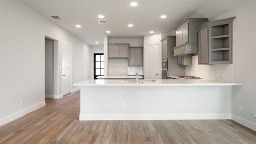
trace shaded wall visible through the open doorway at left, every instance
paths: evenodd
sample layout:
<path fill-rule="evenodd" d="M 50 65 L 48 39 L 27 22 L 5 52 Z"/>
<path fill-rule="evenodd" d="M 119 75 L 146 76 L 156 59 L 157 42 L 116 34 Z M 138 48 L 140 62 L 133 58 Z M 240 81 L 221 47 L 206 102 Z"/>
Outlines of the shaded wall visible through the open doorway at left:
<path fill-rule="evenodd" d="M 54 95 L 54 41 L 48 38 L 45 38 L 45 95 Z"/>

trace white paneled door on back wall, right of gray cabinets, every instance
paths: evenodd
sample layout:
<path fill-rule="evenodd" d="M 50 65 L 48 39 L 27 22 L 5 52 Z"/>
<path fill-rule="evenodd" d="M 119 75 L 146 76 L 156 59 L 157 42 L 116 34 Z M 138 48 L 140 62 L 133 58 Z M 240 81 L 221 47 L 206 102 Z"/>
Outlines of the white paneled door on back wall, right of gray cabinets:
<path fill-rule="evenodd" d="M 159 56 L 160 55 L 160 46 L 150 45 L 146 46 L 146 72 L 145 79 L 159 79 Z"/>

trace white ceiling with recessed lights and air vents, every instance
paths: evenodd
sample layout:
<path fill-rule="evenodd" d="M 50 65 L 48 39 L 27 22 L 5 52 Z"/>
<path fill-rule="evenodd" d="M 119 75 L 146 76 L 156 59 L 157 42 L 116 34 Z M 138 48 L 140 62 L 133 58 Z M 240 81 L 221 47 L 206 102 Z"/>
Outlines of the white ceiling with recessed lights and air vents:
<path fill-rule="evenodd" d="M 79 37 L 89 45 L 102 45 L 103 36 L 138 38 L 170 32 L 185 18 L 210 0 L 21 0 L 52 22 Z M 136 1 L 138 5 L 131 7 Z M 98 24 L 98 15 L 107 24 Z M 58 15 L 61 19 L 53 19 Z M 161 15 L 167 18 L 161 19 Z M 80 24 L 81 27 L 75 27 Z M 134 24 L 128 27 L 128 24 Z M 110 34 L 106 31 L 110 30 Z M 95 42 L 99 44 L 95 44 Z"/>

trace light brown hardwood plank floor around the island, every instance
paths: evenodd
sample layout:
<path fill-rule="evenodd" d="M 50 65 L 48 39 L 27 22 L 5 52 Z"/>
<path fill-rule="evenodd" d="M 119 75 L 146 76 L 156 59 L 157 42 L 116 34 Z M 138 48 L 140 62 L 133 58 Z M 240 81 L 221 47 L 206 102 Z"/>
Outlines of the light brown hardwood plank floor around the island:
<path fill-rule="evenodd" d="M 232 120 L 79 121 L 79 91 L 0 126 L 1 144 L 256 144 Z"/>

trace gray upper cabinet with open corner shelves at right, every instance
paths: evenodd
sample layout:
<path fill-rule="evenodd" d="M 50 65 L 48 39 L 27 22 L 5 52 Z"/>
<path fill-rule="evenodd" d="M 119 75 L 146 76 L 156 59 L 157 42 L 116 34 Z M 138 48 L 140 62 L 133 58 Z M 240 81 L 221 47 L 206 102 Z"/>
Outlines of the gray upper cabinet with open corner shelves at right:
<path fill-rule="evenodd" d="M 232 23 L 235 17 L 202 24 L 198 29 L 198 64 L 232 63 Z"/>

